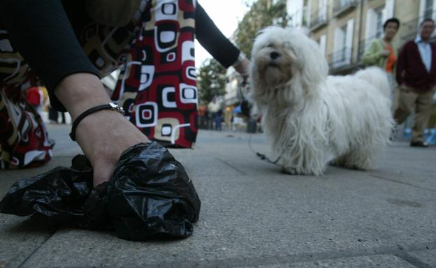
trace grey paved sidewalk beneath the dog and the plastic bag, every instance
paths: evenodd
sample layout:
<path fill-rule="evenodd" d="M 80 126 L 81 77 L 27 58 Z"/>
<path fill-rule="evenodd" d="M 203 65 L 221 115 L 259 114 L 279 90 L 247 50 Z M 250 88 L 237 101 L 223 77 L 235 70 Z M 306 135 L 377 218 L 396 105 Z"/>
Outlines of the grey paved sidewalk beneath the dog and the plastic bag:
<path fill-rule="evenodd" d="M 0 195 L 23 177 L 69 166 L 69 126 L 43 168 L 0 171 Z M 370 172 L 328 168 L 290 176 L 256 158 L 247 133 L 201 131 L 171 150 L 202 201 L 194 234 L 133 242 L 114 233 L 54 229 L 0 214 L 0 267 L 436 267 L 436 148 L 397 142 Z M 268 154 L 262 134 L 252 147 Z"/>

